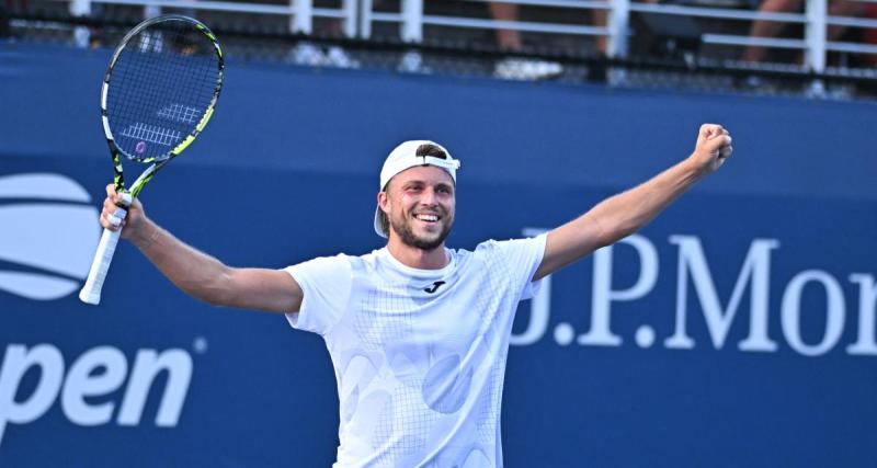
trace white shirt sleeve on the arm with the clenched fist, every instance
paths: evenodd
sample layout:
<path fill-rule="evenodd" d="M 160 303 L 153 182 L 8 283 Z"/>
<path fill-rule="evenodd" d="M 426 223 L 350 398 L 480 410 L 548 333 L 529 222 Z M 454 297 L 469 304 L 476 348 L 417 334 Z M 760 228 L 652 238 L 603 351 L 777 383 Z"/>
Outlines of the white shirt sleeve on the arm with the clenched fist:
<path fill-rule="evenodd" d="M 521 299 L 529 299 L 536 295 L 542 281 L 534 282 L 533 275 L 542 264 L 545 255 L 545 239 L 543 233 L 534 238 L 512 239 L 504 241 L 488 241 L 478 247 L 478 250 L 491 251 L 490 262 L 501 262 L 502 270 L 508 272 Z"/>

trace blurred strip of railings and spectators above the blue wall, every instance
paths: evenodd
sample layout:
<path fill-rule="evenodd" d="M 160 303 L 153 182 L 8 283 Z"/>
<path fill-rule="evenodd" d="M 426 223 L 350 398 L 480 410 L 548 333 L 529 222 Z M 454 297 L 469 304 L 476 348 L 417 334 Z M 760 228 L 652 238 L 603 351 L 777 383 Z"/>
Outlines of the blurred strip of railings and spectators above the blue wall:
<path fill-rule="evenodd" d="M 868 0 L 4 0 L 0 37 L 114 45 L 144 16 L 196 16 L 231 58 L 454 77 L 873 96 Z"/>

